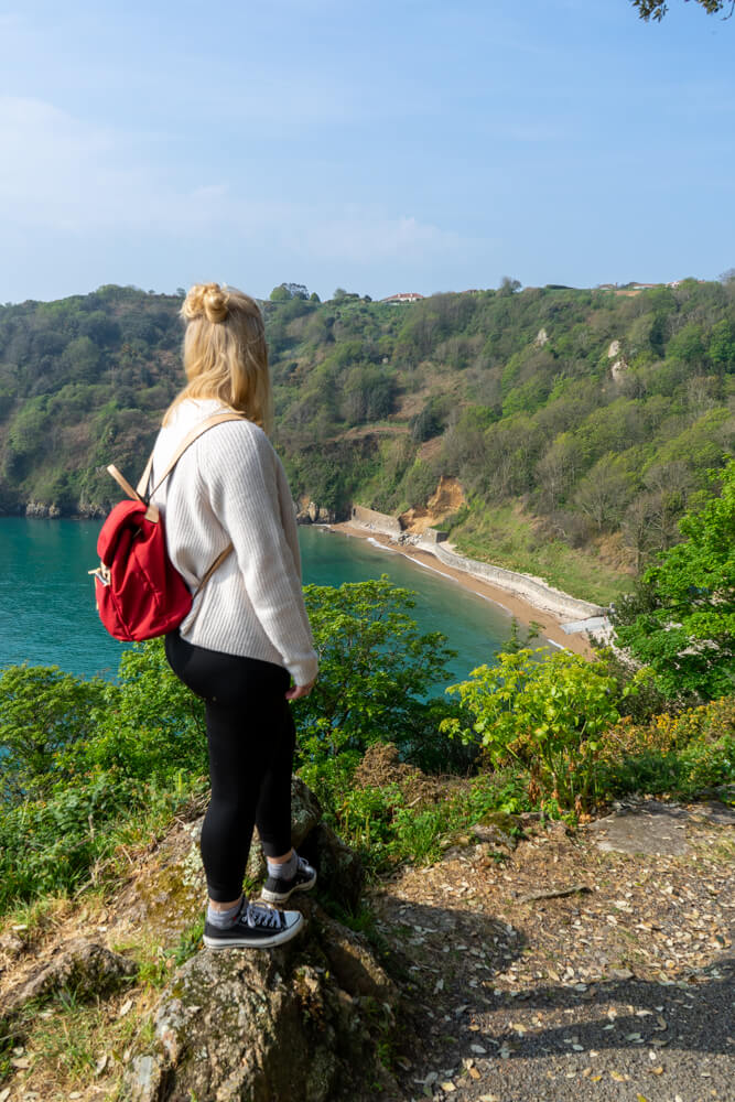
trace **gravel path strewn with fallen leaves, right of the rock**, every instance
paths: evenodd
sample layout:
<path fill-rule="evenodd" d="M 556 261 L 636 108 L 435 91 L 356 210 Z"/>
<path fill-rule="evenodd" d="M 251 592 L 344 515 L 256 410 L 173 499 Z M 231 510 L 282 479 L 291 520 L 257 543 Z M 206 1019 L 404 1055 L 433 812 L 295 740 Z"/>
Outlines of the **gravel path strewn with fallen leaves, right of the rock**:
<path fill-rule="evenodd" d="M 612 847 L 624 812 L 634 852 Z M 651 815 L 673 852 L 635 852 Z M 385 886 L 412 1015 L 401 1099 L 733 1102 L 734 819 L 641 803 L 515 850 L 467 840 Z"/>

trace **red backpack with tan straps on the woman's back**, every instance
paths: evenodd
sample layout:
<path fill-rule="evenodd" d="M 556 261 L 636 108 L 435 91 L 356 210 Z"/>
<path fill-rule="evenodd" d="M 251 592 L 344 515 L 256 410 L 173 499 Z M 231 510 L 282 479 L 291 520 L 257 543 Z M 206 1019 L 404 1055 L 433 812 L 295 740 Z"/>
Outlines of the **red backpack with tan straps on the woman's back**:
<path fill-rule="evenodd" d="M 133 489 L 116 466 L 107 469 L 131 500 L 116 505 L 97 540 L 100 564 L 95 577 L 99 617 L 115 639 L 140 642 L 172 631 L 188 615 L 194 597 L 233 550 L 230 543 L 217 555 L 194 593 L 166 552 L 163 518 L 151 498 L 169 477 L 187 447 L 202 433 L 223 421 L 241 421 L 238 413 L 216 413 L 196 425 L 176 449 L 171 463 L 148 494 L 153 454 Z"/>

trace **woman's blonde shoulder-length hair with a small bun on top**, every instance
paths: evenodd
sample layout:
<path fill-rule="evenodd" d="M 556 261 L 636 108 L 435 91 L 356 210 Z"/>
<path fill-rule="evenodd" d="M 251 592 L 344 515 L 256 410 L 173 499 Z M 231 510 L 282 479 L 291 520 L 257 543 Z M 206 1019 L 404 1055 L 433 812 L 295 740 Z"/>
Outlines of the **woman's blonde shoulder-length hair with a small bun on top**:
<path fill-rule="evenodd" d="M 216 398 L 270 432 L 272 392 L 266 328 L 250 295 L 219 283 L 196 283 L 181 307 L 186 321 L 184 370 L 187 383 L 163 418 L 186 398 Z"/>

